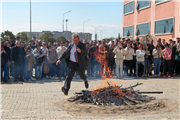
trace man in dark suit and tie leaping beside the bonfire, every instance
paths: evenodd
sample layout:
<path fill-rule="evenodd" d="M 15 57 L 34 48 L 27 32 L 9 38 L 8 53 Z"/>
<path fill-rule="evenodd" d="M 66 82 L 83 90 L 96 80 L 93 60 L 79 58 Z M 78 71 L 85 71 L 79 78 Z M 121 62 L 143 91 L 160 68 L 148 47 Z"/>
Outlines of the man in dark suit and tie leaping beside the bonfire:
<path fill-rule="evenodd" d="M 56 65 L 58 65 L 61 63 L 61 60 L 65 59 L 66 65 L 69 67 L 68 77 L 65 80 L 64 87 L 61 89 L 65 95 L 68 95 L 71 81 L 76 71 L 78 72 L 80 78 L 84 80 L 85 87 L 89 87 L 87 77 L 85 75 L 85 67 L 87 66 L 87 61 L 85 59 L 87 53 L 86 45 L 80 42 L 78 34 L 73 34 L 72 39 L 73 43 L 69 44 L 67 50 L 56 63 Z"/>

